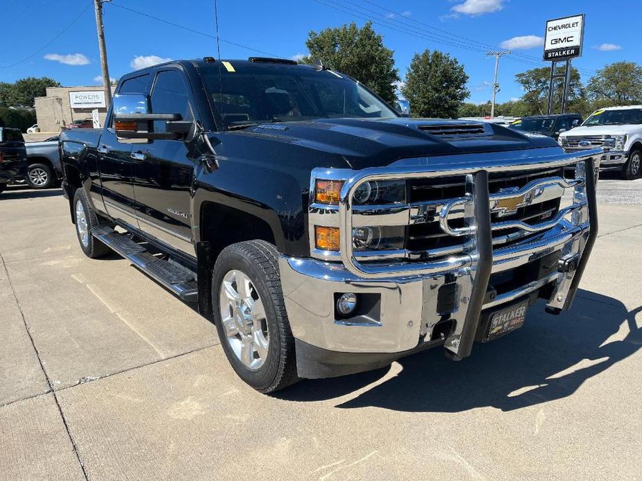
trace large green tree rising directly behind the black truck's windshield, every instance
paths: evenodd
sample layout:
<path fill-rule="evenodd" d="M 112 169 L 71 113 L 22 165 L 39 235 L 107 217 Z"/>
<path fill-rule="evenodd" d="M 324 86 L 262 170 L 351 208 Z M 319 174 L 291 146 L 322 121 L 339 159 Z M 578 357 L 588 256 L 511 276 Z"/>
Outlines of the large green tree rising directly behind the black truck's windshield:
<path fill-rule="evenodd" d="M 312 64 L 320 60 L 326 67 L 359 80 L 394 105 L 394 82 L 399 80 L 399 75 L 394 67 L 393 51 L 384 46 L 381 35 L 372 28 L 372 22 L 362 28 L 352 23 L 326 28 L 319 33 L 313 30 L 305 45 L 310 55 L 301 62 Z"/>

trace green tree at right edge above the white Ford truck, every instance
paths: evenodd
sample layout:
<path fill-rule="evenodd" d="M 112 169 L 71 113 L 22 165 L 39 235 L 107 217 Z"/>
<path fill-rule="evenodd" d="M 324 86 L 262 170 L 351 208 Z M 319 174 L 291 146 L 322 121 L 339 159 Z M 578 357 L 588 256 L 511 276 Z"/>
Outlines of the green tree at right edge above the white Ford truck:
<path fill-rule="evenodd" d="M 610 105 L 631 105 L 642 100 L 642 67 L 635 62 L 615 62 L 598 70 L 586 87 L 591 100 Z"/>

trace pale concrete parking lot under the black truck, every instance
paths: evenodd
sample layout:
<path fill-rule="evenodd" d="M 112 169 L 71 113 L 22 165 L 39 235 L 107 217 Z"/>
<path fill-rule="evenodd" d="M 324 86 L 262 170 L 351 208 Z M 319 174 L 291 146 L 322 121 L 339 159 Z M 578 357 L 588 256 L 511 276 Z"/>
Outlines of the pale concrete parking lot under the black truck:
<path fill-rule="evenodd" d="M 0 195 L 0 480 L 640 480 L 642 180 L 600 180 L 573 310 L 451 362 L 264 396 L 60 189 Z"/>

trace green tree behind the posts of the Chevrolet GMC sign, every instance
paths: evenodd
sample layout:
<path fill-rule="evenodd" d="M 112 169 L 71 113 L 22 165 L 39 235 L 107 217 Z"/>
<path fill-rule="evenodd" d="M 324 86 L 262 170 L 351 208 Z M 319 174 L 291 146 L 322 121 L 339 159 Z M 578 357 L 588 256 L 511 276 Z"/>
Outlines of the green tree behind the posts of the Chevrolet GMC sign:
<path fill-rule="evenodd" d="M 562 66 L 557 73 L 563 73 Z M 521 100 L 526 104 L 530 115 L 546 114 L 548 107 L 548 87 L 550 81 L 550 69 L 530 69 L 515 76 L 517 82 L 522 86 L 524 95 Z M 585 97 L 584 88 L 580 80 L 580 72 L 571 67 L 571 84 L 568 86 L 568 112 L 573 112 L 578 103 L 582 103 Z M 556 81 L 553 87 L 552 112 L 559 113 L 561 110 L 561 96 L 563 94 L 564 82 Z"/>

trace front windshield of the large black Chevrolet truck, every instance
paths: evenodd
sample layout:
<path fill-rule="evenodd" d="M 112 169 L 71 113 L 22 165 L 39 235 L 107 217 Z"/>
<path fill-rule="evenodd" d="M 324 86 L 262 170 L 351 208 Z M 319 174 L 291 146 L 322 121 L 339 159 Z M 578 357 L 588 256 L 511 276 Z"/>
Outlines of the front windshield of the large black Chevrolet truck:
<path fill-rule="evenodd" d="M 218 67 L 208 67 L 202 72 L 205 87 L 226 128 L 266 121 L 397 116 L 362 85 L 333 71 L 244 65 L 234 71 L 221 69 L 219 85 Z"/>

